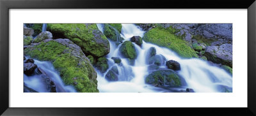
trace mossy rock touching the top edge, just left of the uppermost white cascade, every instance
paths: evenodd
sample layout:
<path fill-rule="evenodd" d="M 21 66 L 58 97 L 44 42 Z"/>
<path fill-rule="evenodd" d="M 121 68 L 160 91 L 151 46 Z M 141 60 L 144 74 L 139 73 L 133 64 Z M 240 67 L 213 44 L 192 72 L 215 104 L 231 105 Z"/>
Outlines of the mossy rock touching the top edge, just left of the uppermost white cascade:
<path fill-rule="evenodd" d="M 111 41 L 116 41 L 117 43 L 120 43 L 120 41 L 124 40 L 124 38 L 122 38 L 120 36 L 120 32 L 118 31 L 118 25 L 121 26 L 121 24 L 115 24 L 115 26 L 113 26 L 113 24 L 104 24 L 104 34 L 107 38 L 109 38 L 109 40 Z"/>

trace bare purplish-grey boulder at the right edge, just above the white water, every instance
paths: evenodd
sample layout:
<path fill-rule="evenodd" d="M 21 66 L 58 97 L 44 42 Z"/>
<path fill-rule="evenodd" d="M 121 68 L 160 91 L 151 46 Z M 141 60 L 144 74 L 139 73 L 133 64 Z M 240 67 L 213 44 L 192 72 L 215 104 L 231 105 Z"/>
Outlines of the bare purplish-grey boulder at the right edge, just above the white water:
<path fill-rule="evenodd" d="M 209 46 L 205 50 L 205 57 L 216 64 L 232 67 L 232 45 L 225 43 L 218 46 Z"/>

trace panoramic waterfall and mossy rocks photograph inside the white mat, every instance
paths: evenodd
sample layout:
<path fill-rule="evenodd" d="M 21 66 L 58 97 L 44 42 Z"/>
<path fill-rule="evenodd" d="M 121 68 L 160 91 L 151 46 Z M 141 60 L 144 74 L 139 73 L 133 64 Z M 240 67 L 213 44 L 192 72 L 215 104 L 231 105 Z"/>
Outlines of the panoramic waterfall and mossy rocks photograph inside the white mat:
<path fill-rule="evenodd" d="M 232 92 L 232 24 L 23 24 L 24 92 Z"/>

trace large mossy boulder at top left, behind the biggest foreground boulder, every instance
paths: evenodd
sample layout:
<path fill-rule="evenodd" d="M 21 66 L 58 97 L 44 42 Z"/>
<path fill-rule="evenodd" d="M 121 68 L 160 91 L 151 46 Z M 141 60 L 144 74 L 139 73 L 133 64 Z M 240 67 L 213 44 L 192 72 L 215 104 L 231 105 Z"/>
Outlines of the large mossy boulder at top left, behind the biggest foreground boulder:
<path fill-rule="evenodd" d="M 109 41 L 96 24 L 47 24 L 53 38 L 68 38 L 81 47 L 84 54 L 102 57 L 109 53 Z"/>

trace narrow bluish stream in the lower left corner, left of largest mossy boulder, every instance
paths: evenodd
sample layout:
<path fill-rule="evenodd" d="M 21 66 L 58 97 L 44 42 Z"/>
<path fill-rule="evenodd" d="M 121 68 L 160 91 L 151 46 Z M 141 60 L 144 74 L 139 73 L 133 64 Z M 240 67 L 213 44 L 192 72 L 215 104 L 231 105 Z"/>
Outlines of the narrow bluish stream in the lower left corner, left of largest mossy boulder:
<path fill-rule="evenodd" d="M 26 57 L 28 59 L 28 57 Z M 76 92 L 76 89 L 70 85 L 65 85 L 60 77 L 58 71 L 54 69 L 51 62 L 49 61 L 38 61 L 34 59 L 34 64 L 37 65 L 38 68 L 41 68 L 45 71 L 47 76 L 54 82 L 56 85 L 56 92 Z M 31 76 L 27 76 L 24 74 L 24 83 L 26 86 L 34 89 L 37 92 L 49 92 L 47 91 L 47 87 L 44 82 L 44 78 L 41 75 L 35 74 Z"/>

